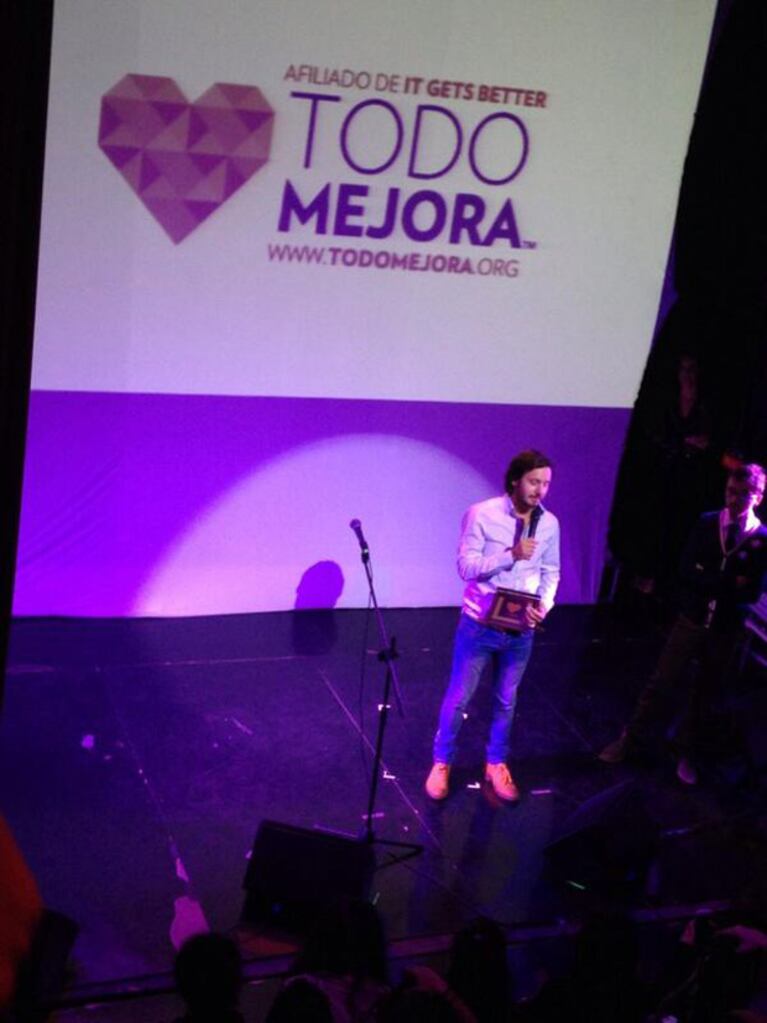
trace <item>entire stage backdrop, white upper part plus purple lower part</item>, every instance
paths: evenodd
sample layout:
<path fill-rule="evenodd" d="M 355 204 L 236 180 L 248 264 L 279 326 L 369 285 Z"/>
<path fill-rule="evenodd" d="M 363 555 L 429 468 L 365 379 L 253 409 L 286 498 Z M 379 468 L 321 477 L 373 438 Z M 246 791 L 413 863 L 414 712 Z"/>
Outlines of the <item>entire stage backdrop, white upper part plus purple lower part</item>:
<path fill-rule="evenodd" d="M 714 6 L 58 0 L 16 613 L 453 604 L 531 445 L 593 599 Z"/>

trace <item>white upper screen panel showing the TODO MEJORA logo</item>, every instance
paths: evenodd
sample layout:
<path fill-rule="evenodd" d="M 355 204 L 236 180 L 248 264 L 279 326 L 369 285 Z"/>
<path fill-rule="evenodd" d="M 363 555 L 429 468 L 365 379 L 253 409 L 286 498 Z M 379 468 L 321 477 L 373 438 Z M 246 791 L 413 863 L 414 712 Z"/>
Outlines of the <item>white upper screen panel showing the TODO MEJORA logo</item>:
<path fill-rule="evenodd" d="M 714 6 L 58 0 L 33 386 L 629 406 Z"/>

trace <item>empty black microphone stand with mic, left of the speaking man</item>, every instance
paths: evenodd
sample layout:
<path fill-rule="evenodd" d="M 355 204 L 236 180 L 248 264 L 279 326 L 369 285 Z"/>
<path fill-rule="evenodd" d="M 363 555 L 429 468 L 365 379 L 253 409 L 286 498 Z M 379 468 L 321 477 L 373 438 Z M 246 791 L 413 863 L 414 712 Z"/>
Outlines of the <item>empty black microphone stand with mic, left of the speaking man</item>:
<path fill-rule="evenodd" d="M 365 569 L 365 575 L 367 576 L 370 603 L 372 604 L 375 613 L 375 620 L 378 626 L 378 638 L 381 644 L 380 650 L 378 651 L 378 660 L 381 664 L 386 665 L 386 672 L 384 675 L 384 695 L 380 703 L 378 704 L 378 727 L 375 735 L 375 752 L 373 754 L 373 763 L 370 773 L 370 788 L 368 791 L 367 810 L 364 817 L 365 827 L 362 835 L 362 841 L 366 845 L 382 845 L 390 848 L 401 849 L 402 851 L 399 855 L 392 855 L 391 859 L 389 859 L 386 863 L 378 864 L 379 868 L 394 866 L 395 863 L 402 863 L 406 859 L 412 859 L 414 856 L 418 856 L 421 852 L 423 852 L 422 845 L 418 845 L 415 842 L 398 842 L 394 839 L 377 838 L 375 836 L 375 832 L 373 831 L 375 797 L 378 792 L 378 775 L 380 773 L 381 756 L 384 753 L 384 736 L 387 729 L 389 711 L 391 710 L 390 698 L 392 690 L 394 690 L 394 696 L 397 702 L 397 711 L 400 717 L 405 716 L 405 712 L 402 707 L 400 682 L 397 677 L 397 668 L 395 667 L 395 661 L 399 655 L 397 653 L 397 640 L 394 636 L 392 636 L 390 640 L 387 633 L 387 626 L 384 622 L 384 616 L 381 615 L 380 608 L 378 607 L 378 601 L 375 595 L 375 586 L 373 585 L 373 572 L 370 567 L 370 550 L 365 542 L 364 536 L 362 535 L 360 523 L 355 519 L 350 525 L 357 534 L 357 539 L 360 542 L 362 565 Z"/>

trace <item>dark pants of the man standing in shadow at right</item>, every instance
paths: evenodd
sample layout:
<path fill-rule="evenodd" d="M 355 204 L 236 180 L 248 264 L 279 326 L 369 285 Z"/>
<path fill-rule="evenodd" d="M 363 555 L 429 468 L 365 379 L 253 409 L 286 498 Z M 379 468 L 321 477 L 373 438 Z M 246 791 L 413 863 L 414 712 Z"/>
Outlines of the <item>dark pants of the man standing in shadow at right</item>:
<path fill-rule="evenodd" d="M 684 756 L 691 756 L 700 748 L 716 695 L 727 671 L 734 664 L 739 635 L 739 628 L 707 629 L 683 615 L 677 618 L 658 659 L 656 670 L 639 694 L 627 725 L 627 735 L 632 744 L 647 745 L 652 732 L 661 724 L 668 724 L 673 698 L 690 662 L 697 658 L 676 746 Z"/>

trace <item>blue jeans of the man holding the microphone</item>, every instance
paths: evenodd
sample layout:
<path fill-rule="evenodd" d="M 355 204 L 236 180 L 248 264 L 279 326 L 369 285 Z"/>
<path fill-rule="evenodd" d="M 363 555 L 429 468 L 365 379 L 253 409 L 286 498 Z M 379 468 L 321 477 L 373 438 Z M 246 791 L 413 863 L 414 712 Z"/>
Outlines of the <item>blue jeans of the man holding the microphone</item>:
<path fill-rule="evenodd" d="M 434 741 L 434 758 L 452 763 L 458 732 L 483 669 L 493 662 L 494 710 L 487 745 L 488 763 L 501 763 L 508 756 L 516 691 L 530 660 L 533 632 L 513 634 L 481 625 L 461 615 L 455 633 L 453 668 L 440 711 Z"/>

